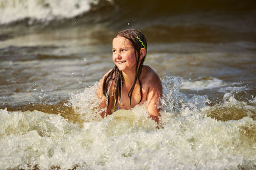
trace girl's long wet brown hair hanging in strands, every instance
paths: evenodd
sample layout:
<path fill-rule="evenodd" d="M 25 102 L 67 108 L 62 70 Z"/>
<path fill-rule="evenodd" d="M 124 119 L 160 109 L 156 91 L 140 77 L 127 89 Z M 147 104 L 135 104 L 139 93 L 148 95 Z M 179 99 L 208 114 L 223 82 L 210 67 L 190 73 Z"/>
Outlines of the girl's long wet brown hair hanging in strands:
<path fill-rule="evenodd" d="M 132 44 L 132 47 L 134 48 L 134 54 L 135 54 L 135 57 L 136 57 L 136 66 L 135 66 L 136 74 L 135 74 L 135 77 L 134 77 L 134 81 L 133 81 L 131 90 L 128 93 L 128 97 L 130 99 L 130 105 L 131 105 L 131 103 L 132 103 L 132 92 L 134 90 L 134 87 L 136 85 L 137 80 L 140 83 L 140 96 L 141 96 L 140 102 L 143 98 L 142 89 L 141 89 L 140 74 L 141 74 L 141 70 L 142 70 L 142 67 L 143 67 L 143 62 L 144 62 L 145 57 L 147 55 L 147 39 L 145 38 L 145 36 L 143 35 L 143 33 L 141 31 L 138 31 L 136 29 L 126 29 L 124 31 L 120 31 L 115 35 L 114 38 L 117 38 L 117 37 L 124 37 L 126 39 L 129 39 L 129 41 Z M 140 50 L 141 50 L 141 48 L 145 48 L 146 53 L 145 53 L 145 56 L 143 57 L 143 59 L 140 62 Z M 120 100 L 121 100 L 121 97 L 122 97 L 121 96 L 121 93 L 122 93 L 121 90 L 122 90 L 122 85 L 124 83 L 124 77 L 123 77 L 122 71 L 120 71 L 116 65 L 108 73 L 108 75 L 104 78 L 103 85 L 102 85 L 102 92 L 103 92 L 104 96 L 106 96 L 106 97 L 108 96 L 108 104 L 109 104 L 109 96 L 111 95 L 111 94 L 107 95 L 108 87 L 109 87 L 109 83 L 113 80 L 115 80 L 115 99 L 114 99 L 114 101 L 118 101 L 118 97 L 119 97 Z M 110 85 L 111 85 L 111 83 L 110 83 Z M 115 106 L 116 106 L 116 102 L 114 104 L 114 108 L 115 108 Z"/>

